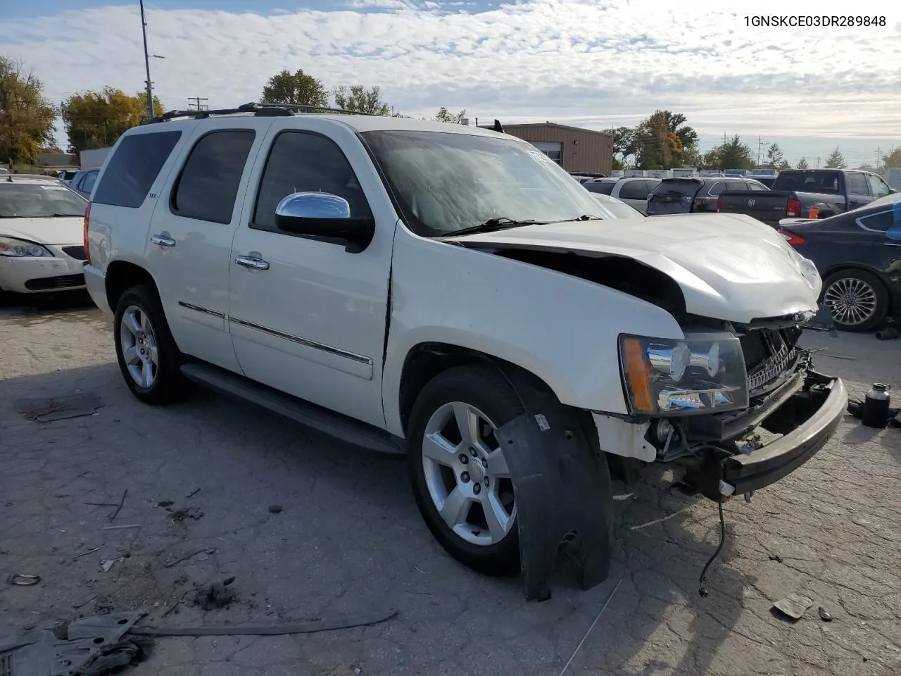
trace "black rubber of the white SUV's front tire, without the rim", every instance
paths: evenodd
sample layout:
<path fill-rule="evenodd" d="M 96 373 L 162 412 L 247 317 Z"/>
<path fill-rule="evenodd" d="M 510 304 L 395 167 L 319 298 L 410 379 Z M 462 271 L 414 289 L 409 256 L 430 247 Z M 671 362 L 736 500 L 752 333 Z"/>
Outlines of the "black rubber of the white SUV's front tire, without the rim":
<path fill-rule="evenodd" d="M 514 388 L 496 369 L 487 365 L 460 366 L 430 380 L 416 397 L 407 425 L 410 481 L 425 524 L 441 546 L 457 561 L 486 575 L 515 575 L 520 571 L 519 533 L 514 525 L 496 544 L 472 544 L 454 533 L 435 507 L 423 470 L 423 436 L 432 414 L 451 402 L 478 408 L 501 427 L 523 413 Z"/>

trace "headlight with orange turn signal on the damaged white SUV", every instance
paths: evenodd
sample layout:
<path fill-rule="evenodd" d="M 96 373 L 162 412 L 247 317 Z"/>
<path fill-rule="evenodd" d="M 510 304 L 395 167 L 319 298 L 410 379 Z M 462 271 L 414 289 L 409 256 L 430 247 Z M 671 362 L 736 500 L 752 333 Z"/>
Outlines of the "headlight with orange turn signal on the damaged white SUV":
<path fill-rule="evenodd" d="M 620 336 L 623 387 L 633 414 L 687 416 L 748 407 L 739 339 L 696 333 L 682 341 Z"/>

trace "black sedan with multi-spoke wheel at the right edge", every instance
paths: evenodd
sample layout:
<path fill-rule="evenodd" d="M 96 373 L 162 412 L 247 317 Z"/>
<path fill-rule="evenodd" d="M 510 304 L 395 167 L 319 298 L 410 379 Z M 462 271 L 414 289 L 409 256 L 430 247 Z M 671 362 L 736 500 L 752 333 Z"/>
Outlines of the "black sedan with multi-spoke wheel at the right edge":
<path fill-rule="evenodd" d="M 881 200 L 880 200 L 881 202 Z M 901 197 L 821 220 L 783 222 L 779 233 L 824 279 L 822 300 L 845 331 L 901 315 Z"/>

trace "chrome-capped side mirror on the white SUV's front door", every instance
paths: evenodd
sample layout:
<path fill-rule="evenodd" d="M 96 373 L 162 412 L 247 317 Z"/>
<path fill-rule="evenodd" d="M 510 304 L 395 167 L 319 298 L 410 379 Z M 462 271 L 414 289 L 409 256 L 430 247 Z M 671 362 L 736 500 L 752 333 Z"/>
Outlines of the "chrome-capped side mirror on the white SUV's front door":
<path fill-rule="evenodd" d="M 276 226 L 286 233 L 344 244 L 345 251 L 359 253 L 376 233 L 372 216 L 351 216 L 350 204 L 329 193 L 291 193 L 276 206 Z"/>

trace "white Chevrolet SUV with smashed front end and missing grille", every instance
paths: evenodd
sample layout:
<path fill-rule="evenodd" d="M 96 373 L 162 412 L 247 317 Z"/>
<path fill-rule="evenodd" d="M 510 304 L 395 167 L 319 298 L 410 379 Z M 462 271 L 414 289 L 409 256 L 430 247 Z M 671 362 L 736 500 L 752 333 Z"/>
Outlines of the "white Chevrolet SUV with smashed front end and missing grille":
<path fill-rule="evenodd" d="M 474 569 L 519 571 L 542 518 L 588 499 L 608 565 L 608 459 L 678 461 L 722 501 L 842 418 L 797 345 L 816 270 L 748 216 L 605 221 L 478 127 L 194 115 L 126 132 L 86 217 L 128 387 L 159 404 L 200 381 L 407 452 L 426 524 Z"/>

